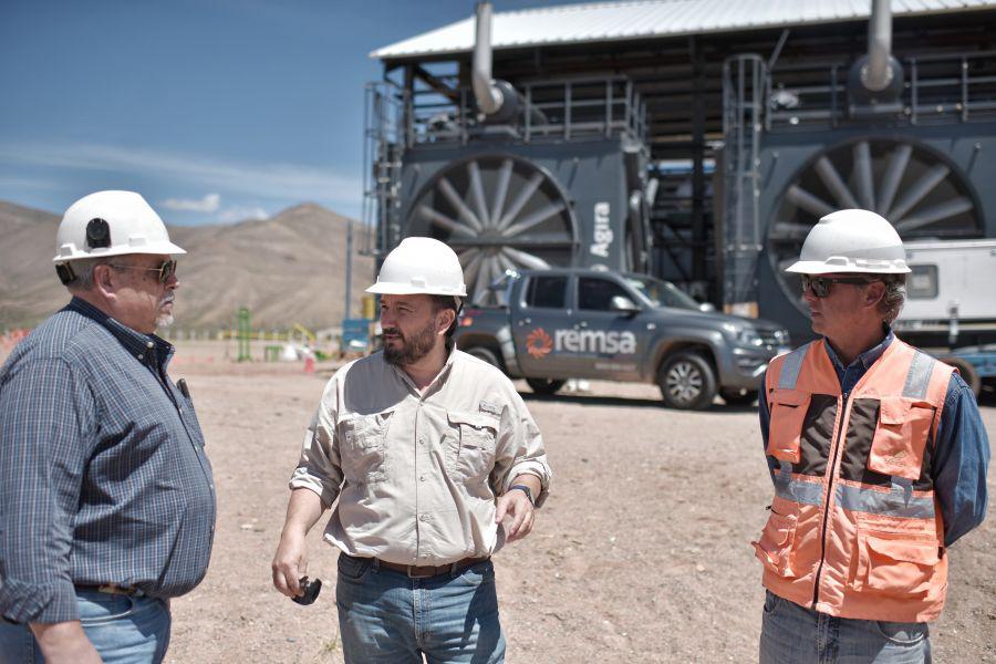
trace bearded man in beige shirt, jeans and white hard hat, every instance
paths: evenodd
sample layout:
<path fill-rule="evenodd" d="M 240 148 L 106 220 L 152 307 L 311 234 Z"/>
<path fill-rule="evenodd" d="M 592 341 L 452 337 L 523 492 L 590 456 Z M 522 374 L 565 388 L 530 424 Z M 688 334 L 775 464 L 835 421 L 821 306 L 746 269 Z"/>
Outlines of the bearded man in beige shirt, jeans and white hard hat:
<path fill-rule="evenodd" d="M 511 382 L 454 349 L 467 291 L 449 247 L 403 240 L 367 292 L 381 295 L 384 350 L 325 387 L 273 584 L 302 594 L 304 536 L 335 504 L 325 540 L 340 550 L 347 663 L 504 662 L 490 557 L 529 535 L 547 497 L 542 438 Z"/>

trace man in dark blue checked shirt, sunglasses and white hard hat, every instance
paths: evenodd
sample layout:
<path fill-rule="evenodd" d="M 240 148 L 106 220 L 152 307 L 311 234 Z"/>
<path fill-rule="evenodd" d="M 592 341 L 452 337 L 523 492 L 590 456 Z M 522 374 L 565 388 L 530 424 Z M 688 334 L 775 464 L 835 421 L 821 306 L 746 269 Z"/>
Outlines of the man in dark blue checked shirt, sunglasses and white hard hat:
<path fill-rule="evenodd" d="M 72 300 L 0 367 L 0 664 L 160 662 L 169 599 L 204 578 L 211 468 L 155 334 L 179 253 L 132 191 L 91 194 L 59 225 Z"/>

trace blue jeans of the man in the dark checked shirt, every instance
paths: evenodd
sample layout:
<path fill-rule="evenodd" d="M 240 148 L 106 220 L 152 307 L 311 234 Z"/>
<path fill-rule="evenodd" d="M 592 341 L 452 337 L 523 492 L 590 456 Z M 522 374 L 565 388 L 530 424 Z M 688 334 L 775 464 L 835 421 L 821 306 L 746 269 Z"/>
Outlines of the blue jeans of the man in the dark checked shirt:
<path fill-rule="evenodd" d="M 80 623 L 104 664 L 158 664 L 169 645 L 166 600 L 76 589 Z M 0 621 L 0 664 L 42 664 L 28 625 Z"/>

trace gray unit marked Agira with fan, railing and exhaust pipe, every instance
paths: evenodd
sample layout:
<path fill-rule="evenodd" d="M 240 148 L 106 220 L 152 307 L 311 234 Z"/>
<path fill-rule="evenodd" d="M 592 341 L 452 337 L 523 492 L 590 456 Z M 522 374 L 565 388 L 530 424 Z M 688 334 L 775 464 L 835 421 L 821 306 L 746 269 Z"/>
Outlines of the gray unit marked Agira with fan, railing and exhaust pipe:
<path fill-rule="evenodd" d="M 433 77 L 369 97 L 378 253 L 409 236 L 446 242 L 477 304 L 497 302 L 488 287 L 508 270 L 650 271 L 654 186 L 634 85 L 492 79 L 490 12 L 478 4 L 469 87 Z"/>

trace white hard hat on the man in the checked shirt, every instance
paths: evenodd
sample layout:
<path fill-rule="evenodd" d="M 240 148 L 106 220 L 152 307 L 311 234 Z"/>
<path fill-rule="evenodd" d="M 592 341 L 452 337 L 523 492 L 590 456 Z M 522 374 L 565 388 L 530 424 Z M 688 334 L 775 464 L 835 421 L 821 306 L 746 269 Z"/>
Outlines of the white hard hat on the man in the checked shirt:
<path fill-rule="evenodd" d="M 186 251 L 169 241 L 166 225 L 134 191 L 97 191 L 65 210 L 55 234 L 52 262 L 125 253 Z"/>

